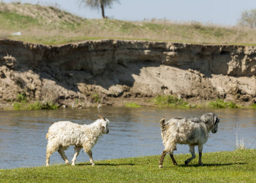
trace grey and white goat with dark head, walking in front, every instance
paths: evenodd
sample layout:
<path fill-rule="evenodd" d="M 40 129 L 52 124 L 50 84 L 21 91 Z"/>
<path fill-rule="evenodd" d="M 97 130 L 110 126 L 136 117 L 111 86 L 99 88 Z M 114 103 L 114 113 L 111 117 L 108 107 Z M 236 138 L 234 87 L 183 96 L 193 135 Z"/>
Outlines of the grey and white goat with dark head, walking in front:
<path fill-rule="evenodd" d="M 162 138 L 164 151 L 159 160 L 159 168 L 163 167 L 164 157 L 170 154 L 172 163 L 178 165 L 174 159 L 174 150 L 177 150 L 177 143 L 188 144 L 192 157 L 185 161 L 185 165 L 196 157 L 195 145 L 199 151 L 199 165 L 202 163 L 203 144 L 208 140 L 209 132 L 216 133 L 218 131 L 219 117 L 214 113 L 205 113 L 200 117 L 194 118 L 171 118 L 165 124 L 165 117 L 161 119 Z"/>

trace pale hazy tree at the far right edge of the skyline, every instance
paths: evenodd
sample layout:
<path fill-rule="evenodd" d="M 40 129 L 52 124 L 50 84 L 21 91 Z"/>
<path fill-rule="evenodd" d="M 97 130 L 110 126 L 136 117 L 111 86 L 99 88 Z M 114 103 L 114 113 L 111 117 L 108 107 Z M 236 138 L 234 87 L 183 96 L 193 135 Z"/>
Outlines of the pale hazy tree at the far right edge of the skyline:
<path fill-rule="evenodd" d="M 251 28 L 256 27 L 256 9 L 245 10 L 242 12 L 239 24 Z"/>

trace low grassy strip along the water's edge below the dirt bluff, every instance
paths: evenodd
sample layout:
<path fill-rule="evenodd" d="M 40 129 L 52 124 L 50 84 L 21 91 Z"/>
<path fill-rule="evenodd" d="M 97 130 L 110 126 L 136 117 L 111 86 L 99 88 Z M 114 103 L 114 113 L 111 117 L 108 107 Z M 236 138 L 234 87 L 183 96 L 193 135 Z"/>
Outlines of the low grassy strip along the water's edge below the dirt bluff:
<path fill-rule="evenodd" d="M 55 110 L 55 109 L 87 109 L 89 107 L 101 108 L 101 107 L 128 107 L 128 108 L 137 108 L 137 107 L 167 107 L 167 108 L 175 108 L 175 109 L 188 109 L 188 108 L 201 108 L 201 109 L 256 109 L 256 104 L 252 104 L 251 106 L 241 106 L 240 104 L 236 104 L 235 102 L 224 102 L 224 100 L 217 99 L 211 101 L 200 101 L 200 102 L 188 102 L 183 101 L 183 99 L 177 99 L 175 102 L 169 102 L 168 97 L 174 96 L 157 96 L 156 98 L 136 98 L 136 99 L 119 99 L 119 102 L 116 102 L 118 99 L 115 98 L 115 102 L 117 105 L 106 105 L 104 103 L 90 103 L 89 106 L 84 107 L 81 106 L 78 102 L 76 105 L 70 104 L 70 106 L 65 106 L 62 104 L 56 103 L 47 103 L 45 101 L 28 101 L 28 102 L 2 102 L 0 103 L 0 110 Z M 161 104 L 159 101 L 156 101 L 157 98 L 167 98 L 166 101 Z M 169 103 L 168 103 L 169 102 Z M 243 104 L 242 104 L 243 105 Z"/>

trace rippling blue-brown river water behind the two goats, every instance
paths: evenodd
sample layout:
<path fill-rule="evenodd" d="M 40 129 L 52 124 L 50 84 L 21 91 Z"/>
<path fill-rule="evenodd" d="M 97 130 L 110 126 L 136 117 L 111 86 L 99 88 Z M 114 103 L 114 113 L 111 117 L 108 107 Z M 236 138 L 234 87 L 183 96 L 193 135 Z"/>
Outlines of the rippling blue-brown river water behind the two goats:
<path fill-rule="evenodd" d="M 93 147 L 93 159 L 109 160 L 122 157 L 160 155 L 163 151 L 159 120 L 165 115 L 192 117 L 205 112 L 214 112 L 221 119 L 218 132 L 212 134 L 203 152 L 233 151 L 236 145 L 236 130 L 247 148 L 255 148 L 255 109 L 168 109 L 168 108 L 117 108 L 59 109 L 0 111 L 0 169 L 38 167 L 45 165 L 47 140 L 45 134 L 56 121 L 72 121 L 89 124 L 97 120 L 97 114 L 108 118 L 109 134 L 104 134 Z M 73 147 L 65 151 L 69 160 Z M 178 145 L 175 154 L 189 152 L 188 145 Z M 196 148 L 196 152 L 197 148 Z M 76 163 L 88 162 L 86 152 L 81 151 Z M 50 159 L 53 163 L 65 162 L 58 152 Z"/>

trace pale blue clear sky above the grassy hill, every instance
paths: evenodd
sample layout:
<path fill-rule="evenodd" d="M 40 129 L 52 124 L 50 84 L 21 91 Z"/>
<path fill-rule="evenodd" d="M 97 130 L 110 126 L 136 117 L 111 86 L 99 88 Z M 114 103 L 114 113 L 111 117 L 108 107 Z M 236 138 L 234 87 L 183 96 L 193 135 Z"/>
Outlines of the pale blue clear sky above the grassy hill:
<path fill-rule="evenodd" d="M 53 5 L 83 18 L 101 18 L 100 10 L 80 5 L 81 0 L 2 0 Z M 256 9 L 256 0 L 119 0 L 105 10 L 109 18 L 142 21 L 152 18 L 177 21 L 196 21 L 205 24 L 235 26 L 244 10 Z"/>

